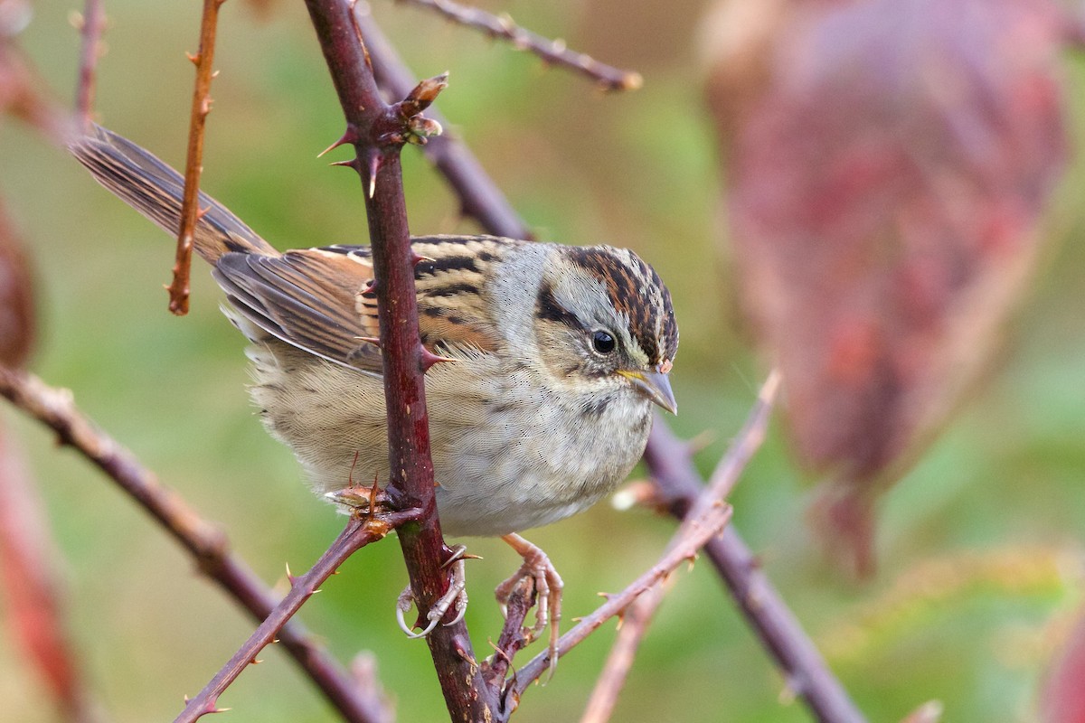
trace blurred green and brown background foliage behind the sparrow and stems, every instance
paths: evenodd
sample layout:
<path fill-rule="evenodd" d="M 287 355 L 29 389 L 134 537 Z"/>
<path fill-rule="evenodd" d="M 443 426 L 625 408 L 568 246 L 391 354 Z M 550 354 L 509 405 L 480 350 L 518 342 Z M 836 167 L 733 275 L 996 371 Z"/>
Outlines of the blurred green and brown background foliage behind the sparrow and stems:
<path fill-rule="evenodd" d="M 280 248 L 365 242 L 357 178 L 316 154 L 342 128 L 301 2 L 229 2 L 217 49 L 203 188 Z M 406 7 L 373 12 L 419 77 L 450 70 L 441 106 L 540 238 L 612 243 L 649 259 L 681 328 L 674 427 L 711 439 L 711 470 L 765 373 L 736 323 L 716 151 L 698 53 L 702 2 L 511 0 L 480 3 L 604 62 L 644 76 L 602 95 L 534 57 Z M 20 38 L 62 101 L 73 94 L 73 2 L 37 3 Z M 110 0 L 99 66 L 100 120 L 183 162 L 200 3 Z M 1085 69 L 1067 53 L 1074 150 Z M 347 157 L 347 150 L 332 159 Z M 1044 671 L 1082 605 L 1085 535 L 1085 167 L 1075 162 L 1047 216 L 1030 293 L 994 371 L 918 465 L 881 502 L 876 576 L 856 584 L 825 564 L 804 525 L 810 482 L 777 429 L 732 500 L 735 525 L 858 706 L 899 720 L 937 698 L 953 721 L 1029 721 Z M 405 152 L 416 233 L 473 232 L 421 155 Z M 242 339 L 219 314 L 201 266 L 192 312 L 175 319 L 161 286 L 169 241 L 17 122 L 0 125 L 0 193 L 28 240 L 38 281 L 33 369 L 74 390 L 81 409 L 229 532 L 266 580 L 308 567 L 342 518 L 301 481 L 289 451 L 253 414 Z M 35 424 L 4 413 L 29 451 L 66 586 L 71 629 L 111 720 L 168 720 L 251 631 L 171 541 L 107 481 Z M 598 591 L 624 588 L 674 526 L 600 504 L 529 533 L 566 581 L 566 619 Z M 468 624 L 476 650 L 499 631 L 490 590 L 516 565 L 500 543 L 470 541 Z M 374 650 L 398 720 L 446 713 L 425 645 L 404 638 L 393 603 L 406 582 L 398 545 L 366 550 L 304 609 L 341 660 Z M 52 713 L 0 632 L 4 720 Z M 578 647 L 516 720 L 575 720 L 613 627 Z M 285 656 L 269 650 L 221 700 L 245 721 L 333 720 Z M 706 565 L 682 572 L 638 657 L 617 721 L 802 721 L 784 681 Z"/>

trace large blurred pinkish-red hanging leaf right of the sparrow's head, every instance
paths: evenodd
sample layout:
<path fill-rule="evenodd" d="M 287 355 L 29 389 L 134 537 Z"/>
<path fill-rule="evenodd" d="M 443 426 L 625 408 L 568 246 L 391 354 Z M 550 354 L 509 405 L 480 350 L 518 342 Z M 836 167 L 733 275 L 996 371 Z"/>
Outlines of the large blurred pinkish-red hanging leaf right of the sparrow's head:
<path fill-rule="evenodd" d="M 877 493 L 1027 279 L 1067 158 L 1070 26 L 1046 0 L 749 4 L 716 14 L 709 87 L 741 301 L 797 454 L 830 480 L 815 519 L 863 574 Z"/>

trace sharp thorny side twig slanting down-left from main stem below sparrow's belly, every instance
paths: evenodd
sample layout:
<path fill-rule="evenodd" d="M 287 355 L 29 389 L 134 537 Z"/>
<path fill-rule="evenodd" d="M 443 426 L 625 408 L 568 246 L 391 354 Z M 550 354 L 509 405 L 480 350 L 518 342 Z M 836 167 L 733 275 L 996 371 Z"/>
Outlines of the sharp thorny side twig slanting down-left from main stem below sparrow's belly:
<path fill-rule="evenodd" d="M 350 555 L 372 542 L 384 539 L 390 530 L 413 519 L 420 512 L 419 509 L 409 509 L 390 515 L 352 517 L 346 528 L 309 571 L 301 578 L 291 580 L 290 592 L 286 593 L 282 602 L 276 606 L 271 615 L 260 623 L 259 628 L 218 671 L 215 677 L 207 683 L 200 695 L 188 701 L 184 710 L 175 719 L 174 723 L 193 723 L 207 713 L 219 712 L 221 709 L 218 708 L 218 697 L 237 680 L 241 671 L 257 661 L 256 656 L 259 655 L 260 650 L 275 642 L 276 634 L 302 608 L 305 601 L 318 592 L 324 580 L 335 572 Z"/>

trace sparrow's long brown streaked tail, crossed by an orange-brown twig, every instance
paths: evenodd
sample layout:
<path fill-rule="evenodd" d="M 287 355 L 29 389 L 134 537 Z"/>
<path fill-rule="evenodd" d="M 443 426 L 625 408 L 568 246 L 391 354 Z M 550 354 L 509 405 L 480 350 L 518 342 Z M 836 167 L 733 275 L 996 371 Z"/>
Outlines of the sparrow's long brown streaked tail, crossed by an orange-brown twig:
<path fill-rule="evenodd" d="M 101 126 L 68 144 L 73 155 L 94 179 L 125 203 L 177 235 L 181 220 L 184 179 L 149 151 Z M 200 194 L 200 212 L 193 245 L 200 256 L 214 263 L 228 251 L 278 256 L 237 216 L 210 196 Z"/>

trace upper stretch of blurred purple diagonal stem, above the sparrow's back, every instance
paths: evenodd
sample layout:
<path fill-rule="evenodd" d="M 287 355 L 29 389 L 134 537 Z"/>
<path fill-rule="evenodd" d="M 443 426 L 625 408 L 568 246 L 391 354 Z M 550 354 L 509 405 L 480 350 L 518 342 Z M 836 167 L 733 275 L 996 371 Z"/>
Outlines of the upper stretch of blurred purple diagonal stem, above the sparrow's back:
<path fill-rule="evenodd" d="M 355 5 L 355 20 L 362 40 L 373 63 L 376 83 L 387 98 L 405 98 L 414 86 L 413 76 L 403 64 L 395 49 L 388 43 L 381 29 L 373 22 L 369 5 Z M 531 232 L 509 202 L 498 191 L 493 179 L 486 175 L 478 160 L 463 146 L 463 143 L 448 132 L 449 124 L 431 107 L 426 115 L 446 129 L 441 135 L 430 139 L 422 146 L 422 153 L 448 180 L 460 199 L 464 216 L 475 219 L 489 233 L 510 238 L 533 238 Z"/>

